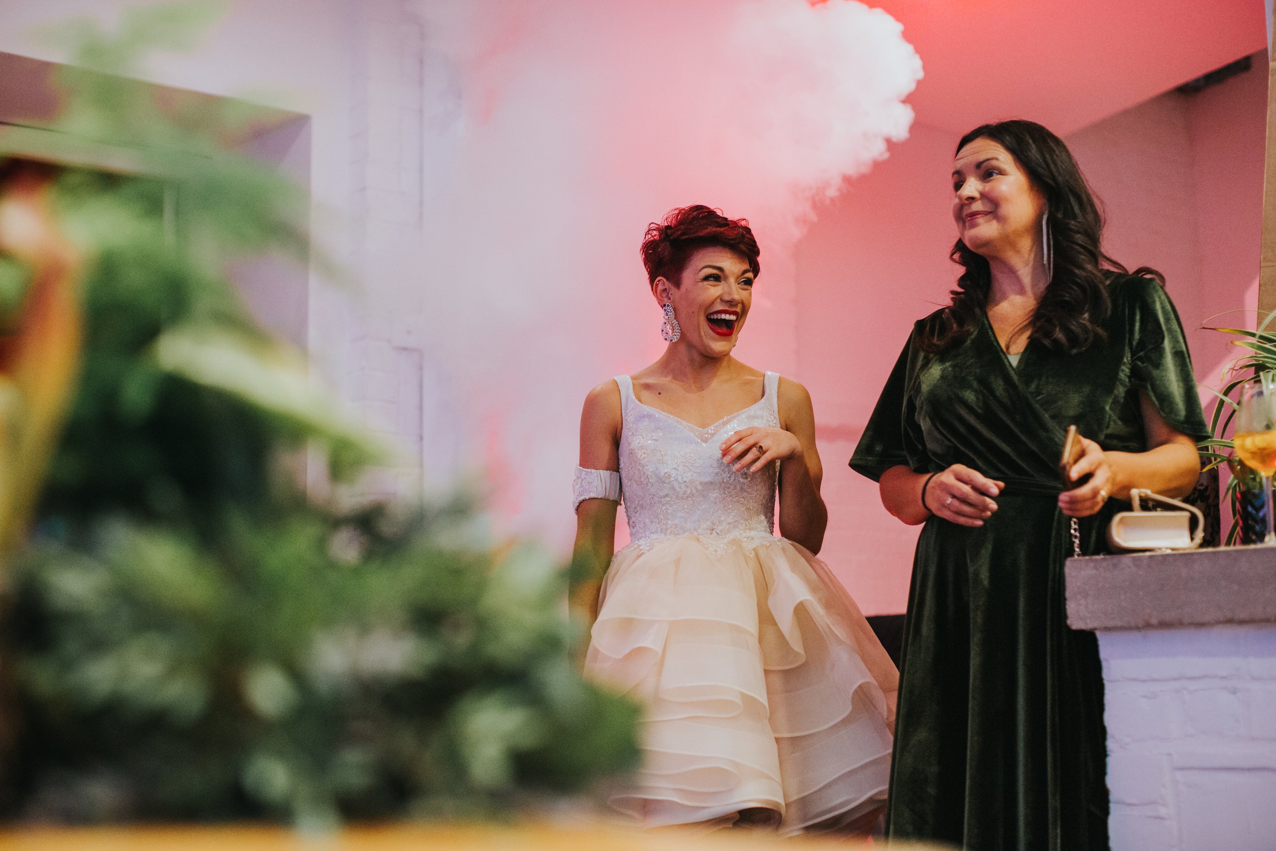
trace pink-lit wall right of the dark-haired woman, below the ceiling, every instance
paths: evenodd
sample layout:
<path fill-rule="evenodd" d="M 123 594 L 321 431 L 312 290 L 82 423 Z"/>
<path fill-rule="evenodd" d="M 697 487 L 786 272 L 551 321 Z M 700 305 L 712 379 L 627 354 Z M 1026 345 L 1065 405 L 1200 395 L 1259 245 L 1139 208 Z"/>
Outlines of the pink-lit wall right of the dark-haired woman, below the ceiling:
<path fill-rule="evenodd" d="M 1205 325 L 1253 327 L 1262 225 L 1267 54 L 1194 94 L 1168 92 L 1068 137 L 1102 198 L 1108 253 L 1165 273 L 1201 381 L 1235 356 Z M 1229 351 L 1230 350 L 1230 351 Z"/>

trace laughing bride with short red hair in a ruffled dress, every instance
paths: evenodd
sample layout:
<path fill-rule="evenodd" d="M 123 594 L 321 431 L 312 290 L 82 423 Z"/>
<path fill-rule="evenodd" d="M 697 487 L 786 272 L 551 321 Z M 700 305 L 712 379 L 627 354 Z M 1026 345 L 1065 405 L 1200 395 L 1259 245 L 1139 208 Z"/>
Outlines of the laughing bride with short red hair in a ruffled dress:
<path fill-rule="evenodd" d="M 646 827 L 869 831 L 897 674 L 814 556 L 810 396 L 731 356 L 758 244 L 695 205 L 652 225 L 642 256 L 669 347 L 590 392 L 574 486 L 586 672 L 646 708 L 642 768 L 612 804 Z M 630 544 L 612 558 L 621 496 Z"/>

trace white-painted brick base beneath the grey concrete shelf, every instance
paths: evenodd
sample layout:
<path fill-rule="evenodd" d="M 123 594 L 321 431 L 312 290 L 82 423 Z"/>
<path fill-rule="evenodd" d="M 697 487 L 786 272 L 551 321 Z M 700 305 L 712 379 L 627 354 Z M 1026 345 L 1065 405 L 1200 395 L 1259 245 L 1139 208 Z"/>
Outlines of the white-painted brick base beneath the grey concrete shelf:
<path fill-rule="evenodd" d="M 1276 848 L 1276 625 L 1099 647 L 1114 851 Z"/>

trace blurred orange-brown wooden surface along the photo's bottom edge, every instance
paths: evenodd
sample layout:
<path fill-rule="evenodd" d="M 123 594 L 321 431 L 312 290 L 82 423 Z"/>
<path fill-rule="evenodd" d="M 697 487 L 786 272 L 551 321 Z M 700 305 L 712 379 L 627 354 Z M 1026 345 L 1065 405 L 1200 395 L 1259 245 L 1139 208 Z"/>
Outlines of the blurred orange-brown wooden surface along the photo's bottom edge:
<path fill-rule="evenodd" d="M 708 836 L 643 834 L 618 827 L 425 827 L 388 825 L 300 837 L 277 827 L 43 828 L 0 831 L 4 851 L 842 851 L 882 847 L 850 840 L 786 840 L 776 834 L 718 831 Z M 891 843 L 892 848 L 942 851 Z"/>

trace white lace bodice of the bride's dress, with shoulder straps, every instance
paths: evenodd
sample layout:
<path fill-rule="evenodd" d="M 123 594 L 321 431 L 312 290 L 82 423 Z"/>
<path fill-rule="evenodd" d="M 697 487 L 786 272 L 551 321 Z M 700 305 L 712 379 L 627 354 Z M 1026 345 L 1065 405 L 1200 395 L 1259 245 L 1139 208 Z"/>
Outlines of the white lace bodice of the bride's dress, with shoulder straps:
<path fill-rule="evenodd" d="M 776 464 L 735 472 L 718 444 L 749 426 L 780 427 L 780 376 L 767 373 L 762 398 L 707 429 L 697 429 L 634 398 L 628 375 L 620 385 L 620 482 L 632 546 L 660 538 L 769 538 L 776 505 Z"/>

